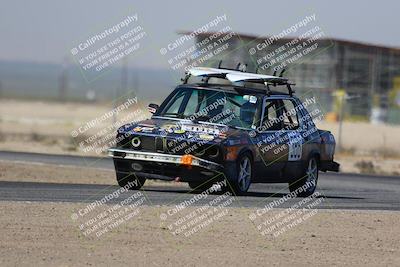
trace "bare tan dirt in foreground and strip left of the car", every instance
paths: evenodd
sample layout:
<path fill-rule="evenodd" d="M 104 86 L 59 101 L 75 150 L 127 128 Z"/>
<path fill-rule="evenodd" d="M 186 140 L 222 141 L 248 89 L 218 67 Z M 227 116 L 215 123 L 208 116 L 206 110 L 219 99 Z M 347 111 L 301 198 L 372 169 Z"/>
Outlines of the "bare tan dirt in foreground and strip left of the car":
<path fill-rule="evenodd" d="M 0 161 L 1 181 L 115 184 L 114 179 L 108 170 Z M 73 219 L 85 207 L 1 202 L 0 266 L 400 265 L 399 212 L 315 210 L 281 235 L 263 236 L 249 219 L 255 209 L 228 207 L 225 216 L 185 237 L 173 235 L 160 220 L 173 207 L 143 205 L 97 237 Z"/>

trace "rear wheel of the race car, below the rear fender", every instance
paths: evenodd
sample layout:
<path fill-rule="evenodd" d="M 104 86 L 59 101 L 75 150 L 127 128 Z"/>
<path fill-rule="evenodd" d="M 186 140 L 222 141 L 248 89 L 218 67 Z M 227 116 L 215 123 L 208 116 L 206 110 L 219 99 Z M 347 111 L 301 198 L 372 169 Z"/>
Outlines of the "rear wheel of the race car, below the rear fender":
<path fill-rule="evenodd" d="M 298 197 L 308 197 L 312 195 L 317 188 L 318 172 L 318 158 L 312 156 L 307 160 L 301 177 L 289 183 L 290 192 L 296 192 Z"/>

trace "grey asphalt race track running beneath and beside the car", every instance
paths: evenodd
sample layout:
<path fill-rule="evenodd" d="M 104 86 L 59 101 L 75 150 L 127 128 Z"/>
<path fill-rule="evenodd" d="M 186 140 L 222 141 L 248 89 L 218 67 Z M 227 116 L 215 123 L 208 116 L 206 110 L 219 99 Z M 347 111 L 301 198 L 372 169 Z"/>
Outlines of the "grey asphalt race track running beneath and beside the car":
<path fill-rule="evenodd" d="M 109 158 L 0 151 L 0 160 L 113 169 Z M 118 188 L 116 185 L 0 181 L 0 200 L 90 203 Z M 323 198 L 317 207 L 321 209 L 400 210 L 400 177 L 320 173 L 317 191 Z M 119 198 L 127 198 L 134 192 L 123 193 Z M 287 193 L 286 184 L 253 184 L 247 195 L 234 197 L 232 206 L 264 207 Z M 143 194 L 147 205 L 179 204 L 195 196 L 188 187 L 182 186 L 145 185 Z M 209 195 L 197 201 L 196 205 L 205 204 L 218 196 L 219 193 Z M 119 202 L 119 198 L 110 203 Z M 290 207 L 296 201 L 299 199 L 289 199 L 279 207 Z"/>

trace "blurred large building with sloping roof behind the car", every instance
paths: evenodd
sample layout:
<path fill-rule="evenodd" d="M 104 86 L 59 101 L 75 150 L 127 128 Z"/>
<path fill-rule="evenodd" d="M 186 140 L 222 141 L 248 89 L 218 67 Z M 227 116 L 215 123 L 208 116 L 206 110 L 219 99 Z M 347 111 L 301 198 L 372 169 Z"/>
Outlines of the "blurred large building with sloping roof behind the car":
<path fill-rule="evenodd" d="M 195 42 L 202 43 L 212 34 L 197 35 Z M 262 47 L 268 37 L 235 35 L 227 41 L 229 46 L 224 53 L 202 65 L 216 66 L 219 60 L 223 60 L 223 66 L 235 67 L 241 62 L 248 64 L 248 71 L 255 71 L 259 65 L 257 59 L 295 39 L 282 38 L 268 44 L 265 49 L 254 49 L 257 44 Z M 343 89 L 348 95 L 355 96 L 347 101 L 347 114 L 369 118 L 373 108 L 382 113 L 387 111 L 389 92 L 394 88 L 395 78 L 400 76 L 400 48 L 328 38 L 317 39 L 315 43 L 318 46 L 316 50 L 288 64 L 284 73 L 296 83 L 299 94 L 312 90 L 327 111 L 331 111 L 334 109 L 334 92 Z M 249 52 L 252 48 L 253 54 Z M 263 64 L 265 67 L 265 62 Z M 272 74 L 274 67 L 262 69 L 259 66 L 258 72 Z"/>

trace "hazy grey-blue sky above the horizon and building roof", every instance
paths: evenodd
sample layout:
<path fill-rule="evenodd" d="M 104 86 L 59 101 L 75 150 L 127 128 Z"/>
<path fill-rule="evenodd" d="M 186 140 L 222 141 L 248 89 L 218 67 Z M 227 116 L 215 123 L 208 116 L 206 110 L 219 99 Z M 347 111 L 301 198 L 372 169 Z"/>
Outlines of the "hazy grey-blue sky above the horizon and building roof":
<path fill-rule="evenodd" d="M 400 47 L 400 1 L 107 1 L 1 0 L 0 60 L 61 63 L 71 48 L 137 13 L 148 44 L 133 66 L 165 68 L 159 48 L 226 14 L 238 33 L 277 34 L 306 15 L 331 38 Z M 149 46 L 150 47 L 150 46 Z"/>

